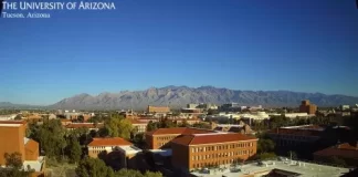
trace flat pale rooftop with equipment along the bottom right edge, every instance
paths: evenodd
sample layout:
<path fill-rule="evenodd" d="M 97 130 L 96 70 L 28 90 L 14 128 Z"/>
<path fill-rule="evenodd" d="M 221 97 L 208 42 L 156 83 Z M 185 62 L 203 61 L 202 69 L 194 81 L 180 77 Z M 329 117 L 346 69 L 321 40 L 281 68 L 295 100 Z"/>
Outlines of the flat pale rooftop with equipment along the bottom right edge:
<path fill-rule="evenodd" d="M 234 171 L 235 169 L 240 169 Z M 339 177 L 349 171 L 348 168 L 333 167 L 306 162 L 297 160 L 266 160 L 263 165 L 257 163 L 239 165 L 236 168 L 227 166 L 223 170 L 210 169 L 210 174 L 204 174 L 200 171 L 191 173 L 194 176 L 200 177 L 238 177 L 252 175 L 254 177 L 261 177 L 267 175 L 273 169 L 280 169 L 291 173 L 299 174 L 299 177 L 312 177 L 312 176 L 323 176 L 323 177 Z"/>

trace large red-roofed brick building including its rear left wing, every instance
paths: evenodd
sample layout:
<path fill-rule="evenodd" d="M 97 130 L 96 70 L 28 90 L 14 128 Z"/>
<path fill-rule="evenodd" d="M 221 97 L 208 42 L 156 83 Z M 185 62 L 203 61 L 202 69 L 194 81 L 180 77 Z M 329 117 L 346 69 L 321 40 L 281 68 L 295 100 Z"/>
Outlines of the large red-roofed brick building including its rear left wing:
<path fill-rule="evenodd" d="M 159 128 L 147 133 L 151 149 L 170 148 L 172 166 L 185 173 L 209 166 L 227 166 L 256 154 L 257 138 L 199 128 Z"/>

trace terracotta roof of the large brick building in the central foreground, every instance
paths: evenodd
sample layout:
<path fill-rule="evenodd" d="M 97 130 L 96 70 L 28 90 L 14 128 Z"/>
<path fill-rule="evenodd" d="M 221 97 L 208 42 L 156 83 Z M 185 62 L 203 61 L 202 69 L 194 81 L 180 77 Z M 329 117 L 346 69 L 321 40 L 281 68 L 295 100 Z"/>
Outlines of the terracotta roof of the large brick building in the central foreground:
<path fill-rule="evenodd" d="M 255 140 L 257 138 L 250 137 L 243 134 L 202 134 L 202 135 L 183 135 L 175 138 L 172 143 L 181 145 L 201 145 L 215 144 L 225 142 Z"/>

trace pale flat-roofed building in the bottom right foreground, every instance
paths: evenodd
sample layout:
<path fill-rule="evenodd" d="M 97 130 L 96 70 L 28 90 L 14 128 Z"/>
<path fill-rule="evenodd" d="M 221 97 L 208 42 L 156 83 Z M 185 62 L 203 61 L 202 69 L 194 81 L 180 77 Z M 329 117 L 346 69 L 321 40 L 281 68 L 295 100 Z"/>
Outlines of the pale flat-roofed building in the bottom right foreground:
<path fill-rule="evenodd" d="M 349 173 L 349 174 L 348 174 Z M 230 170 L 218 168 L 193 170 L 192 177 L 356 177 L 349 168 L 327 166 L 308 162 L 291 160 L 285 157 L 250 162 L 243 166 L 233 166 Z M 188 175 L 189 176 L 189 175 Z"/>

